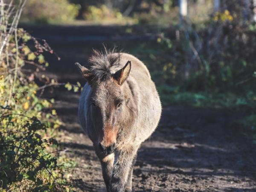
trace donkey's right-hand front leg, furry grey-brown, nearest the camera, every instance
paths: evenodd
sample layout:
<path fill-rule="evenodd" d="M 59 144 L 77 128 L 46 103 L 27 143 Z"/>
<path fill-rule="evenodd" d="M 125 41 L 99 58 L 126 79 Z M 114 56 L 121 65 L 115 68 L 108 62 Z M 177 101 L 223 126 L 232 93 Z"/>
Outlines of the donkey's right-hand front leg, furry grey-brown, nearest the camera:
<path fill-rule="evenodd" d="M 111 177 L 110 191 L 125 192 L 128 175 L 133 164 L 133 159 L 136 154 L 134 150 L 117 151 Z"/>

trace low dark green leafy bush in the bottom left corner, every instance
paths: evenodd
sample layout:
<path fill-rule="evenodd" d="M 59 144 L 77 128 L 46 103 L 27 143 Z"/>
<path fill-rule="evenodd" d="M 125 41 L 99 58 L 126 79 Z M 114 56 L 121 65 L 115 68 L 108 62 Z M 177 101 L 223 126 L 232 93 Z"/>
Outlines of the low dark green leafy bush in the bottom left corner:
<path fill-rule="evenodd" d="M 11 108 L 6 111 L 12 111 Z M 13 112 L 13 111 L 12 111 Z M 55 187 L 51 172 L 57 158 L 47 151 L 57 144 L 42 137 L 47 125 L 36 117 L 3 112 L 0 116 L 0 178 L 3 189 L 43 191 Z"/>

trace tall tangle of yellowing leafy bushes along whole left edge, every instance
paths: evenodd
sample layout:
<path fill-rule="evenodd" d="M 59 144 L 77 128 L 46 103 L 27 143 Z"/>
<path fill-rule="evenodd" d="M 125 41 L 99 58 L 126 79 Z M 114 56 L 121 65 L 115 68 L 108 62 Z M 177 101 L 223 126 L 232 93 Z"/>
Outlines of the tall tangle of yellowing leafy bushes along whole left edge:
<path fill-rule="evenodd" d="M 0 190 L 60 191 L 63 173 L 51 135 L 61 122 L 55 110 L 47 110 L 54 100 L 40 98 L 34 82 L 48 66 L 43 52 L 53 51 L 15 27 L 23 4 L 1 3 L 0 9 Z"/>

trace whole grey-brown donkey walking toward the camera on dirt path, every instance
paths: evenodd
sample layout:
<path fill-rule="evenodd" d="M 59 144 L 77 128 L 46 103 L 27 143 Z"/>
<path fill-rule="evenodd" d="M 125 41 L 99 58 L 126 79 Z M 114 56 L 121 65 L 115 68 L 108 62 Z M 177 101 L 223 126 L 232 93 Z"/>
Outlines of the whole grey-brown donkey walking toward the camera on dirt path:
<path fill-rule="evenodd" d="M 108 192 L 131 192 L 140 144 L 156 129 L 161 102 L 147 67 L 127 53 L 95 51 L 89 67 L 76 63 L 87 80 L 79 123 L 102 165 Z"/>

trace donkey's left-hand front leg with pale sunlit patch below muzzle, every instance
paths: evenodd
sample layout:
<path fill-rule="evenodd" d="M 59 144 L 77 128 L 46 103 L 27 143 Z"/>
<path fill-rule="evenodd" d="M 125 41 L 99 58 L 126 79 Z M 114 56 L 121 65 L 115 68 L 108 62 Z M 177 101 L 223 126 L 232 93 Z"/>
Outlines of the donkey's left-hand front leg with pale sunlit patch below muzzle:
<path fill-rule="evenodd" d="M 106 184 L 107 191 L 110 192 L 110 180 L 113 171 L 114 154 L 109 154 L 100 159 L 102 165 L 102 175 Z"/>

